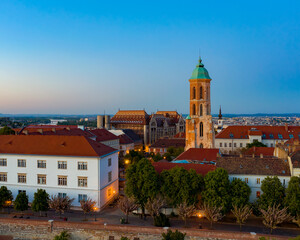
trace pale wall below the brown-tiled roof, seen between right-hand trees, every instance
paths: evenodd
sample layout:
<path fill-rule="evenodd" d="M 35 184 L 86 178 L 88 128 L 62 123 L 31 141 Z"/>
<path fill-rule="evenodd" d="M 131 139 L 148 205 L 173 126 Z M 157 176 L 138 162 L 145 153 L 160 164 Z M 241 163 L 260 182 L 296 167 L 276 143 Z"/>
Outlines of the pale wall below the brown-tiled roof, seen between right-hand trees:
<path fill-rule="evenodd" d="M 250 194 L 250 202 L 255 202 L 257 200 L 257 192 L 260 192 L 260 195 L 263 193 L 261 190 L 261 184 L 262 181 L 267 176 L 264 175 L 239 175 L 239 174 L 229 174 L 229 180 L 233 181 L 234 178 L 239 178 L 242 181 L 246 181 L 248 186 L 251 188 L 251 194 Z M 248 182 L 246 180 L 248 178 Z M 288 186 L 290 177 L 289 176 L 278 176 L 279 180 L 282 184 L 284 184 L 285 187 Z M 259 179 L 259 183 L 257 182 Z"/>

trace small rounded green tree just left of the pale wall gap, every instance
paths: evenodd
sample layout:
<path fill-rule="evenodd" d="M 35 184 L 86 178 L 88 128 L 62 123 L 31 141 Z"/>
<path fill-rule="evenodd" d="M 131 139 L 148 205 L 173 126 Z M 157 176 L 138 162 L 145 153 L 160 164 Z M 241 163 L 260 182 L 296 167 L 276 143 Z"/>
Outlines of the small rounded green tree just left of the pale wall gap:
<path fill-rule="evenodd" d="M 243 207 L 249 202 L 251 189 L 247 183 L 241 179 L 234 179 L 230 183 L 230 196 L 232 205 Z"/>

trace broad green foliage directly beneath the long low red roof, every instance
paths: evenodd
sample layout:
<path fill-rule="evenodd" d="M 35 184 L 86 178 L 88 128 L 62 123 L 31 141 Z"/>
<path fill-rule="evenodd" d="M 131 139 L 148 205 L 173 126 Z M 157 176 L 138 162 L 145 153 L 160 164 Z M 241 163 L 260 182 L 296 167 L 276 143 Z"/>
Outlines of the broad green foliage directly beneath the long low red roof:
<path fill-rule="evenodd" d="M 197 203 L 203 185 L 203 177 L 194 169 L 175 167 L 161 173 L 161 192 L 173 207 L 183 202 Z"/>

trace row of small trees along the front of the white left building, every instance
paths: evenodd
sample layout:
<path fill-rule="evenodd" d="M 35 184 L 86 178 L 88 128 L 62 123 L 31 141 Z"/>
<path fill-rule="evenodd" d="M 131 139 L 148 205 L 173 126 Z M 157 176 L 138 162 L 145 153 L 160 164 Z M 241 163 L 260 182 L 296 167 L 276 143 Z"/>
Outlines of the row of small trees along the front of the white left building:
<path fill-rule="evenodd" d="M 7 187 L 2 186 L 0 188 L 0 208 L 9 207 L 12 204 L 13 196 L 10 190 Z M 49 196 L 49 194 L 43 190 L 38 189 L 34 193 L 34 199 L 31 203 L 31 209 L 34 212 L 39 212 L 40 216 L 42 212 L 48 211 L 50 208 L 55 210 L 57 213 L 63 214 L 64 212 L 70 210 L 72 207 L 72 202 L 74 199 L 66 197 Z M 24 192 L 20 192 L 15 201 L 13 202 L 14 209 L 16 211 L 24 212 L 28 210 L 28 196 Z M 95 211 L 96 202 L 88 198 L 86 200 L 80 201 L 80 206 L 86 216 L 87 213 Z"/>

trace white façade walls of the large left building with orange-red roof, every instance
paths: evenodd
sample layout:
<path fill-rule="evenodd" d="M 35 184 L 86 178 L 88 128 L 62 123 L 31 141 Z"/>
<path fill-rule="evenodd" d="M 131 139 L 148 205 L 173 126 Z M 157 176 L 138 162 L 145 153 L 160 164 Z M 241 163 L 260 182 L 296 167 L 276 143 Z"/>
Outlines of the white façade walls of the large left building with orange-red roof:
<path fill-rule="evenodd" d="M 112 184 L 118 179 L 118 154 L 113 153 L 103 158 L 97 157 L 64 157 L 64 156 L 37 156 L 37 155 L 7 155 L 0 158 L 7 159 L 7 166 L 0 166 L 0 172 L 7 173 L 7 182 L 0 182 L 0 186 L 7 186 L 13 197 L 19 190 L 25 190 L 29 202 L 37 189 L 45 189 L 49 195 L 66 193 L 74 198 L 73 206 L 79 207 L 79 194 L 85 194 L 96 201 L 100 208 L 105 202 L 100 202 L 100 189 Z M 105 167 L 108 158 L 112 159 L 112 166 Z M 18 167 L 18 159 L 26 160 L 26 167 Z M 45 160 L 46 168 L 38 168 L 37 160 Z M 58 161 L 66 161 L 67 169 L 58 169 Z M 78 170 L 78 162 L 86 162 L 87 170 Z M 108 183 L 108 171 L 112 171 L 112 182 Z M 26 174 L 26 183 L 18 183 L 18 173 Z M 38 184 L 38 175 L 46 175 L 46 184 Z M 67 176 L 67 186 L 58 185 L 58 176 Z M 87 177 L 87 187 L 78 186 L 78 177 Z M 118 192 L 116 192 L 118 194 Z"/>

